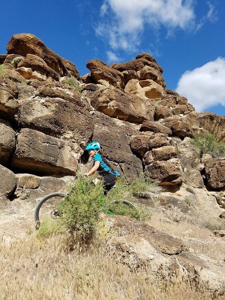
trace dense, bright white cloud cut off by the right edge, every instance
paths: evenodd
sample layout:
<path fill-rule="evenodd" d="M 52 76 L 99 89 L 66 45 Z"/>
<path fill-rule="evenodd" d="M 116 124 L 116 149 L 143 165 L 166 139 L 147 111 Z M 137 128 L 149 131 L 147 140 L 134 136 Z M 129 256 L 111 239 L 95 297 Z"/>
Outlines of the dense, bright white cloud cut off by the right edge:
<path fill-rule="evenodd" d="M 225 106 L 225 57 L 217 57 L 201 67 L 184 72 L 176 91 L 187 97 L 196 111 L 218 104 Z"/>

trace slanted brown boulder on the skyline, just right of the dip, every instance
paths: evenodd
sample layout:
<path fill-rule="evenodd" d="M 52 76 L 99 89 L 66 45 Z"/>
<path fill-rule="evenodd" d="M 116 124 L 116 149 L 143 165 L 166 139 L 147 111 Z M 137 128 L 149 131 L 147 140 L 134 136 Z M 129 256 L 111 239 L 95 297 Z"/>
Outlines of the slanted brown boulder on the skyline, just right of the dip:
<path fill-rule="evenodd" d="M 86 67 L 90 70 L 90 75 L 96 83 L 101 83 L 100 80 L 106 80 L 115 87 L 123 87 L 123 74 L 105 62 L 92 59 L 87 61 Z"/>

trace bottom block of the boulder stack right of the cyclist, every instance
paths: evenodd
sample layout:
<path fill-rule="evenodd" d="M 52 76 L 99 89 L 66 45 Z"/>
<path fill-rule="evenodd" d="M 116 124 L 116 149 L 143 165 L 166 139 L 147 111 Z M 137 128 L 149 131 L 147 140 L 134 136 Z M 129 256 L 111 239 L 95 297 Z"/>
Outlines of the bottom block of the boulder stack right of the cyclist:
<path fill-rule="evenodd" d="M 182 168 L 177 158 L 154 161 L 145 168 L 150 181 L 159 185 L 177 185 L 182 182 Z"/>

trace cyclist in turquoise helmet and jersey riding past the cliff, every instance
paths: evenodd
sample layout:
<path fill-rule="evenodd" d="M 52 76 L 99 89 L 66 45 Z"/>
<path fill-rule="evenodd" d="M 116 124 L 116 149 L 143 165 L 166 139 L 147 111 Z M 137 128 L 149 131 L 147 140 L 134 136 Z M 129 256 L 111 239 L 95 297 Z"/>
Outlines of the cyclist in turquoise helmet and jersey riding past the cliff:
<path fill-rule="evenodd" d="M 105 193 L 107 193 L 107 191 L 115 184 L 116 179 L 115 175 L 110 172 L 112 168 L 109 162 L 99 153 L 100 149 L 100 145 L 97 141 L 92 141 L 85 147 L 84 151 L 87 150 L 89 156 L 93 159 L 93 166 L 84 175 L 90 176 L 98 171 L 98 174 L 102 176 L 103 179 Z M 95 178 L 93 183 L 96 185 L 100 179 L 101 178 Z"/>

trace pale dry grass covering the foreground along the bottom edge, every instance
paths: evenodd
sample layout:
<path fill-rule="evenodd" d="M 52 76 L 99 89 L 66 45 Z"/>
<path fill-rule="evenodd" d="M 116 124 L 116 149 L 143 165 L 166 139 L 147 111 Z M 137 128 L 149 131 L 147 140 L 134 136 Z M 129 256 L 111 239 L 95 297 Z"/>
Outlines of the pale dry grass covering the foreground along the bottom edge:
<path fill-rule="evenodd" d="M 147 272 L 115 263 L 103 244 L 68 251 L 65 234 L 0 242 L 0 299 L 209 299 L 188 285 L 160 287 Z"/>

